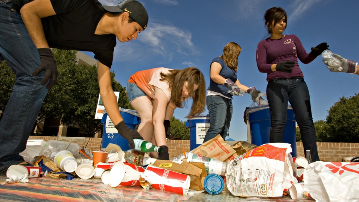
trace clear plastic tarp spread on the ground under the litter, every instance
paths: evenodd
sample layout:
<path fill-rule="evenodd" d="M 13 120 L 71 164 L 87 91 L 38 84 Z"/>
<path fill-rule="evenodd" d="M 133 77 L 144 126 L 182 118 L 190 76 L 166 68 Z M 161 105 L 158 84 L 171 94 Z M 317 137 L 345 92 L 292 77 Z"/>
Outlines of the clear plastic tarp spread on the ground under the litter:
<path fill-rule="evenodd" d="M 1 202 L 299 202 L 290 196 L 276 198 L 241 198 L 233 196 L 228 190 L 218 195 L 206 192 L 193 196 L 181 196 L 172 192 L 141 187 L 116 187 L 102 183 L 101 179 L 73 180 L 57 178 L 31 178 L 27 183 L 5 183 L 6 177 L 0 173 Z M 5 184 L 4 184 L 5 183 Z M 302 200 L 301 202 L 312 202 Z"/>

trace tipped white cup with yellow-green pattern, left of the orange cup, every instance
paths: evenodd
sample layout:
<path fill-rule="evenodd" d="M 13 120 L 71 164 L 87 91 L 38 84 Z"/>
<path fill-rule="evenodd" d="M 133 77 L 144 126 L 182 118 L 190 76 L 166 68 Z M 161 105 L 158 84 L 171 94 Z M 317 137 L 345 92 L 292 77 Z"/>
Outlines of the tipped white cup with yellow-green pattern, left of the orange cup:
<path fill-rule="evenodd" d="M 57 167 L 67 173 L 72 173 L 77 167 L 77 162 L 74 155 L 67 150 L 57 152 L 53 162 Z"/>

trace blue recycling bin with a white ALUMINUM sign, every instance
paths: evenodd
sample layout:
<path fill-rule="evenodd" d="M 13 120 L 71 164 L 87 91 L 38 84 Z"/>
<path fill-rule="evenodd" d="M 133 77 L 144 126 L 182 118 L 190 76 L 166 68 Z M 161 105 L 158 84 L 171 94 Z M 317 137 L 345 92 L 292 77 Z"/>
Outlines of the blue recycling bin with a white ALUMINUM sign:
<path fill-rule="evenodd" d="M 187 119 L 185 127 L 190 128 L 190 150 L 197 148 L 203 143 L 209 126 L 209 114 Z"/>

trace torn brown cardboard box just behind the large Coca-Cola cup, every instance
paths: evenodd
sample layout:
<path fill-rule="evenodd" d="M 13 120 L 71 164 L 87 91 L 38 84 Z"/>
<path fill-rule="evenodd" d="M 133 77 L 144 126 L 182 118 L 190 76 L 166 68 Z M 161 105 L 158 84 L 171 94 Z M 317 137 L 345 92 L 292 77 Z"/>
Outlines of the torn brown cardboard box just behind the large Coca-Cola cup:
<path fill-rule="evenodd" d="M 207 176 L 204 163 L 156 160 L 153 166 L 189 175 L 191 177 L 190 189 L 198 191 L 204 190 L 203 182 L 204 178 Z"/>

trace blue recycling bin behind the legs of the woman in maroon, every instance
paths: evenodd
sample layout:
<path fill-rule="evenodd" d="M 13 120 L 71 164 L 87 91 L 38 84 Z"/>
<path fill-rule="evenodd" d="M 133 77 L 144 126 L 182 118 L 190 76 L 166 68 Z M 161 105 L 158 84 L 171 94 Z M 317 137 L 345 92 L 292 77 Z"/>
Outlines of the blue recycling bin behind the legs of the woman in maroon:
<path fill-rule="evenodd" d="M 260 146 L 269 143 L 271 113 L 269 106 L 255 106 L 247 110 L 251 129 L 252 144 Z M 292 144 L 292 156 L 297 156 L 297 136 L 295 134 L 295 116 L 292 106 L 288 105 L 287 123 L 284 128 L 283 142 Z"/>

